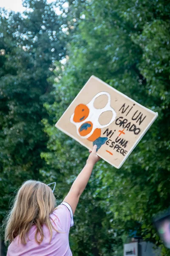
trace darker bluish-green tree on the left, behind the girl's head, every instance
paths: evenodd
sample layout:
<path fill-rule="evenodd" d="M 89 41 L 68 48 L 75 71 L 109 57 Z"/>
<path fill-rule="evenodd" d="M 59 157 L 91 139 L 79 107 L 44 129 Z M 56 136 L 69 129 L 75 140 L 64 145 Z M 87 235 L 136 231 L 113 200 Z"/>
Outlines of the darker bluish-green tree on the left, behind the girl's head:
<path fill-rule="evenodd" d="M 53 102 L 48 78 L 65 53 L 56 5 L 45 0 L 24 5 L 24 14 L 0 10 L 0 222 L 25 180 L 43 180 L 40 153 L 47 136 L 41 120 L 48 116 L 43 104 Z"/>

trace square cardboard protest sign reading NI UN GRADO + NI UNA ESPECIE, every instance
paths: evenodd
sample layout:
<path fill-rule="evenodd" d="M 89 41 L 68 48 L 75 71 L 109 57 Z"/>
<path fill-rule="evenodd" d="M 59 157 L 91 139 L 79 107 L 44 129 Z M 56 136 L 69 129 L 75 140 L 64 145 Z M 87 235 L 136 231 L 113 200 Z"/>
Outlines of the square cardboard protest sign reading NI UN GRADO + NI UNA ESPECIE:
<path fill-rule="evenodd" d="M 55 126 L 119 169 L 157 116 L 91 76 Z"/>

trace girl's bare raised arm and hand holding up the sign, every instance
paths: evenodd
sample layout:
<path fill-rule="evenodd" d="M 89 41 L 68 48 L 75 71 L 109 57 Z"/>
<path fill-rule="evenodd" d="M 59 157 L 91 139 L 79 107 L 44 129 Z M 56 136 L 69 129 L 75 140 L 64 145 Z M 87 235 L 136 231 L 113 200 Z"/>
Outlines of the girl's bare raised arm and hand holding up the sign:
<path fill-rule="evenodd" d="M 91 172 L 93 170 L 93 167 L 95 163 L 100 159 L 100 157 L 96 155 L 96 148 L 97 146 L 94 145 L 93 150 L 89 151 L 91 152 L 91 154 L 88 157 L 85 167 L 77 176 L 76 180 L 71 186 L 70 191 L 68 192 L 68 195 L 64 199 L 64 202 L 70 204 L 73 210 L 73 214 L 79 202 L 80 195 L 82 195 L 82 192 L 85 190 L 88 180 L 91 177 Z"/>

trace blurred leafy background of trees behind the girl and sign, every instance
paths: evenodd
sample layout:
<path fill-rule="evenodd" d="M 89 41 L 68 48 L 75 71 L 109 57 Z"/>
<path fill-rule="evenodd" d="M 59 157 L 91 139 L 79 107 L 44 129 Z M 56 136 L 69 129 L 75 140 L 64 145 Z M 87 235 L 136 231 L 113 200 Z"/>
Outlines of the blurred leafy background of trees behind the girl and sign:
<path fill-rule="evenodd" d="M 87 150 L 54 124 L 91 75 L 159 117 L 121 169 L 96 165 L 73 255 L 135 255 L 123 244 L 137 241 L 169 256 L 152 224 L 170 206 L 169 0 L 0 0 L 0 224 L 25 180 L 56 181 L 60 202 L 81 171 Z"/>

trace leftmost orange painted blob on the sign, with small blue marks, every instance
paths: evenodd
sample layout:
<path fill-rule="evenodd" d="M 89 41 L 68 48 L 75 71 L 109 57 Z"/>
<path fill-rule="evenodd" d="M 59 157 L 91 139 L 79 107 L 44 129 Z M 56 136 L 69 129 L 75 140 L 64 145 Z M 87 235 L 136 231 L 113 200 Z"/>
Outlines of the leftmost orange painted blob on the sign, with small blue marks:
<path fill-rule="evenodd" d="M 79 104 L 74 110 L 74 122 L 82 122 L 84 121 L 89 115 L 89 108 L 84 104 Z"/>

